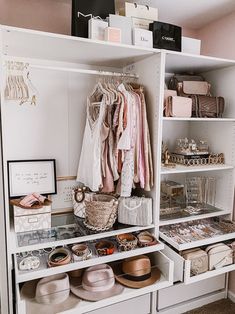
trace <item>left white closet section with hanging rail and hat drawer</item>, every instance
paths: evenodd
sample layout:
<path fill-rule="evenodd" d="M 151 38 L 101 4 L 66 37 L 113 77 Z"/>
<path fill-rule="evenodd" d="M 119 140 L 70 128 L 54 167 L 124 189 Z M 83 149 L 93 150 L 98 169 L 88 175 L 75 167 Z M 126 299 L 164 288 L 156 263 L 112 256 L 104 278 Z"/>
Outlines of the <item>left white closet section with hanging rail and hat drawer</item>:
<path fill-rule="evenodd" d="M 116 230 L 62 241 L 47 243 L 40 240 L 34 241 L 31 245 L 14 232 L 9 211 L 6 163 L 7 160 L 55 158 L 58 177 L 76 175 L 85 126 L 87 95 L 91 93 L 100 76 L 122 77 L 125 76 L 123 72 L 130 72 L 135 66 L 136 74 L 127 74 L 127 76 L 139 77 L 139 82 L 146 86 L 155 177 L 154 188 L 146 195 L 152 197 L 154 208 L 157 208 L 160 52 L 4 26 L 1 28 L 1 38 L 2 90 L 6 80 L 6 61 L 27 63 L 31 80 L 38 90 L 36 106 L 30 104 L 19 106 L 17 101 L 5 101 L 3 93 L 1 98 L 6 254 L 10 283 L 8 293 L 9 300 L 15 301 L 14 304 L 10 304 L 11 310 L 12 306 L 16 306 L 17 313 L 30 314 L 27 311 L 27 301 L 22 299 L 20 291 L 24 282 L 92 265 L 123 260 L 130 256 L 148 254 L 152 267 L 157 266 L 161 270 L 161 278 L 158 282 L 143 289 L 125 288 L 121 295 L 98 302 L 81 301 L 76 307 L 67 309 L 64 313 L 87 313 L 107 306 L 109 306 L 107 310 L 117 313 L 120 309 L 124 311 L 128 307 L 133 307 L 133 303 L 138 303 L 140 300 L 142 300 L 142 306 L 139 307 L 138 313 L 154 312 L 156 309 L 155 291 L 173 283 L 173 262 L 161 252 L 164 245 L 160 241 L 159 244 L 151 247 L 116 252 L 112 255 L 94 257 L 61 267 L 48 268 L 45 259 L 35 271 L 20 271 L 17 254 L 32 249 L 39 250 L 57 245 L 92 241 L 141 230 L 150 230 L 159 238 L 158 212 L 154 211 L 153 223 L 150 226 L 119 227 Z M 129 65 L 131 66 L 128 68 Z M 69 225 L 68 219 L 67 216 L 62 216 L 59 224 Z M 58 222 L 58 218 L 53 219 L 53 225 L 56 224 L 55 221 Z M 15 291 L 14 294 L 12 291 Z M 140 299 L 134 301 L 133 298 L 136 297 Z M 130 301 L 120 303 L 125 300 Z M 115 303 L 120 303 L 120 305 L 110 308 Z"/>

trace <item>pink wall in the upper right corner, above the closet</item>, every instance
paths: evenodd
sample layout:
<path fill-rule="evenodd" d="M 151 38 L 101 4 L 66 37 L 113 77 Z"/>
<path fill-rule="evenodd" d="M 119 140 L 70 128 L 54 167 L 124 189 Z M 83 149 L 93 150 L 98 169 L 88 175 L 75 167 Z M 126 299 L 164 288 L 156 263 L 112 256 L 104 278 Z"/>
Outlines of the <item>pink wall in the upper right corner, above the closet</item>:
<path fill-rule="evenodd" d="M 210 23 L 198 31 L 202 54 L 235 59 L 235 12 Z"/>

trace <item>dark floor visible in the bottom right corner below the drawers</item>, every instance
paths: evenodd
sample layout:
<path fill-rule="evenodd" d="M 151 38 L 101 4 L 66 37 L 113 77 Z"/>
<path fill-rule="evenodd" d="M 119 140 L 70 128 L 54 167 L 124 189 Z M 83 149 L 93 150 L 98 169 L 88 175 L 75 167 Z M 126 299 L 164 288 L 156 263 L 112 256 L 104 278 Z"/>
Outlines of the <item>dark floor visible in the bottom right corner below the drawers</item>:
<path fill-rule="evenodd" d="M 186 312 L 185 314 L 235 314 L 235 303 L 229 299 L 223 299 Z"/>

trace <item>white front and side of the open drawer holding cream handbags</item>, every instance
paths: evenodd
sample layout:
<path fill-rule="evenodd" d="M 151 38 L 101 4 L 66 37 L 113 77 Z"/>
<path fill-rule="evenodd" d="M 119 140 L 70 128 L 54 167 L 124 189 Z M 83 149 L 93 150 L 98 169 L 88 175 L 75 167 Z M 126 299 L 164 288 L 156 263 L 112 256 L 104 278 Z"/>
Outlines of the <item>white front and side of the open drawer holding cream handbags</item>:
<path fill-rule="evenodd" d="M 174 282 L 183 281 L 185 284 L 191 284 L 235 270 L 235 264 L 232 264 L 215 270 L 209 270 L 199 275 L 191 276 L 191 261 L 185 260 L 180 254 L 168 246 L 165 246 L 164 253 L 172 261 L 174 261 Z"/>

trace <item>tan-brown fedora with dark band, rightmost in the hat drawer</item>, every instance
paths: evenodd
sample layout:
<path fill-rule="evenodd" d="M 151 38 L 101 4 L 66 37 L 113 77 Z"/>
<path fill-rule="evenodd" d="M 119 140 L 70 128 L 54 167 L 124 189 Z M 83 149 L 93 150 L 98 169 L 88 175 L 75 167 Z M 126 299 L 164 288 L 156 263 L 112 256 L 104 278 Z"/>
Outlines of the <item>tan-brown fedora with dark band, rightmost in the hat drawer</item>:
<path fill-rule="evenodd" d="M 139 255 L 124 260 L 114 268 L 116 280 L 130 288 L 143 288 L 157 282 L 161 272 L 157 267 L 151 267 L 148 256 Z"/>

